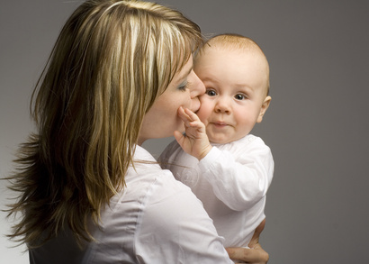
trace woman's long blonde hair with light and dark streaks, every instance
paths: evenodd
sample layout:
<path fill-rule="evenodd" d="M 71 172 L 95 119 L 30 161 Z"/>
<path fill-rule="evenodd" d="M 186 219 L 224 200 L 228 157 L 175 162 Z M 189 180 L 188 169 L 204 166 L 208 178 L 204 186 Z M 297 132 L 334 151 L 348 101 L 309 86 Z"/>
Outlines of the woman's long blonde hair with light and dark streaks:
<path fill-rule="evenodd" d="M 67 225 L 91 241 L 104 205 L 124 187 L 144 115 L 202 44 L 197 24 L 154 3 L 91 0 L 58 36 L 32 94 L 38 132 L 8 179 L 19 193 L 9 235 L 40 246 Z"/>

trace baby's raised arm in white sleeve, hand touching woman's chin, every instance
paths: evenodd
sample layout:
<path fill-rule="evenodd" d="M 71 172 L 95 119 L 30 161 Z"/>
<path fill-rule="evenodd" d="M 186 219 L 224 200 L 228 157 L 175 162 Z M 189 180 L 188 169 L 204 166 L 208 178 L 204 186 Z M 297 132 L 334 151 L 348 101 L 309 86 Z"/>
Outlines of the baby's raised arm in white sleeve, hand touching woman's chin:
<path fill-rule="evenodd" d="M 211 184 L 214 195 L 225 205 L 243 211 L 258 203 L 273 178 L 274 161 L 264 141 L 257 139 L 247 146 L 238 144 L 238 153 L 212 147 L 205 125 L 188 109 L 180 107 L 185 134 L 175 132 L 175 140 L 188 154 L 200 160 L 202 177 Z"/>

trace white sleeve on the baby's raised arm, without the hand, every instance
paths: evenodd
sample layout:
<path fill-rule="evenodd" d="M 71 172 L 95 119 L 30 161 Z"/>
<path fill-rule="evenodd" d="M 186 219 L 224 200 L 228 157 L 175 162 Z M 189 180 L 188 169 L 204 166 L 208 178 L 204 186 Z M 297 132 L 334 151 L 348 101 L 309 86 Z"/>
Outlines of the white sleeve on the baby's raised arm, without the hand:
<path fill-rule="evenodd" d="M 220 201 L 235 211 L 243 211 L 266 196 L 274 160 L 269 147 L 257 138 L 237 154 L 213 147 L 200 160 L 199 168 Z"/>

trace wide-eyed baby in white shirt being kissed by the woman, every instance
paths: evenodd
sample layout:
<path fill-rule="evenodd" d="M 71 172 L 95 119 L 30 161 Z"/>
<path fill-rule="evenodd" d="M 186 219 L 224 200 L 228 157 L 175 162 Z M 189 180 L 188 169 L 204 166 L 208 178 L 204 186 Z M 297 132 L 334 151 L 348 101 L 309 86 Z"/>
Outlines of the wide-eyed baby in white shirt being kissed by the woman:
<path fill-rule="evenodd" d="M 206 87 L 201 108 L 178 110 L 185 134 L 175 132 L 159 160 L 202 201 L 226 247 L 247 247 L 274 171 L 270 149 L 249 134 L 272 99 L 268 62 L 255 41 L 223 34 L 203 46 L 194 71 Z"/>

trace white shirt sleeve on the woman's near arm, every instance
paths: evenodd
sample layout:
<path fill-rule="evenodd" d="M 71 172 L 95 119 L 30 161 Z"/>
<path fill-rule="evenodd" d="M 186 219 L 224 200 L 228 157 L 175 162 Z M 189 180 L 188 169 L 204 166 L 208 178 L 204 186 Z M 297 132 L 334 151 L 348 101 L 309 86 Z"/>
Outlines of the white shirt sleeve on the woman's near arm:
<path fill-rule="evenodd" d="M 136 235 L 139 263 L 233 263 L 191 189 L 173 179 L 150 197 Z"/>

